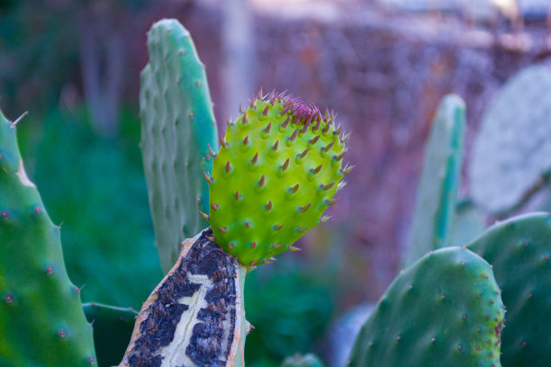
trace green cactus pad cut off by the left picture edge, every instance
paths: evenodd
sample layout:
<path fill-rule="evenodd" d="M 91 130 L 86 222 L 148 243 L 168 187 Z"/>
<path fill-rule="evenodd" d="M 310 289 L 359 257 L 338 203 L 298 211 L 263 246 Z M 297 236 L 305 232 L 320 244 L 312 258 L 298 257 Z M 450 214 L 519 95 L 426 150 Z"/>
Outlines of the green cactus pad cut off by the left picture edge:
<path fill-rule="evenodd" d="M 63 263 L 59 227 L 0 112 L 0 365 L 97 366 L 92 327 Z"/>

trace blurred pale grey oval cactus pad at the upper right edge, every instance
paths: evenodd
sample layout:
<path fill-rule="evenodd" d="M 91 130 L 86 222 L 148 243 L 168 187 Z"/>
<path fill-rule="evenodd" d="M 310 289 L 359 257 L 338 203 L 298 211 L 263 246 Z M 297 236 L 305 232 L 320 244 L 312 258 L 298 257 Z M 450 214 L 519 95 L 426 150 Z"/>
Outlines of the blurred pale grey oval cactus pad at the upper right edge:
<path fill-rule="evenodd" d="M 551 174 L 551 69 L 510 78 L 484 113 L 469 169 L 474 201 L 496 214 L 518 208 Z"/>

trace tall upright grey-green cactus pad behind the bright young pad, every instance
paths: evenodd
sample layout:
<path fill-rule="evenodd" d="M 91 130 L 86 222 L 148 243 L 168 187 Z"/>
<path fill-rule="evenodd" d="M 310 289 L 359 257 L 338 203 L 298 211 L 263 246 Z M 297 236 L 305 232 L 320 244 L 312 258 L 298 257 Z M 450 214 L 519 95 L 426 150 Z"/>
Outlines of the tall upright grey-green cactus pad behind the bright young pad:
<path fill-rule="evenodd" d="M 203 63 L 189 32 L 176 20 L 153 25 L 148 34 L 149 64 L 140 79 L 141 149 L 165 272 L 176 262 L 180 244 L 207 226 L 210 172 L 208 147 L 218 132 Z"/>

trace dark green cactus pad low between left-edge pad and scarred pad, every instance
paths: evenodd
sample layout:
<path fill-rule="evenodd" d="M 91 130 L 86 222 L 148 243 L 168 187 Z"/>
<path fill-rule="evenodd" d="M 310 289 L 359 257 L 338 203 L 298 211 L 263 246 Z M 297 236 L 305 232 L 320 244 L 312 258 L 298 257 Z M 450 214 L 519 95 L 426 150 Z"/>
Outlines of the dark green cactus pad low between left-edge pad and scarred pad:
<path fill-rule="evenodd" d="M 138 312 L 101 303 L 82 305 L 86 319 L 94 327 L 94 344 L 99 367 L 119 363 L 131 340 L 134 319 Z"/>

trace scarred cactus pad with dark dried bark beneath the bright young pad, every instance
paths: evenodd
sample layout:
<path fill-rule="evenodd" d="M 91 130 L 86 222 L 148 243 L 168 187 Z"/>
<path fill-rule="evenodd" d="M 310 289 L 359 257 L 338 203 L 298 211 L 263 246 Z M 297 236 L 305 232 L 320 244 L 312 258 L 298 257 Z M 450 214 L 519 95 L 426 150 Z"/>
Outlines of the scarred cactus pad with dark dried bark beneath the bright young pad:
<path fill-rule="evenodd" d="M 178 261 L 143 304 L 121 367 L 243 365 L 246 268 L 211 236 L 205 229 L 185 240 Z"/>

